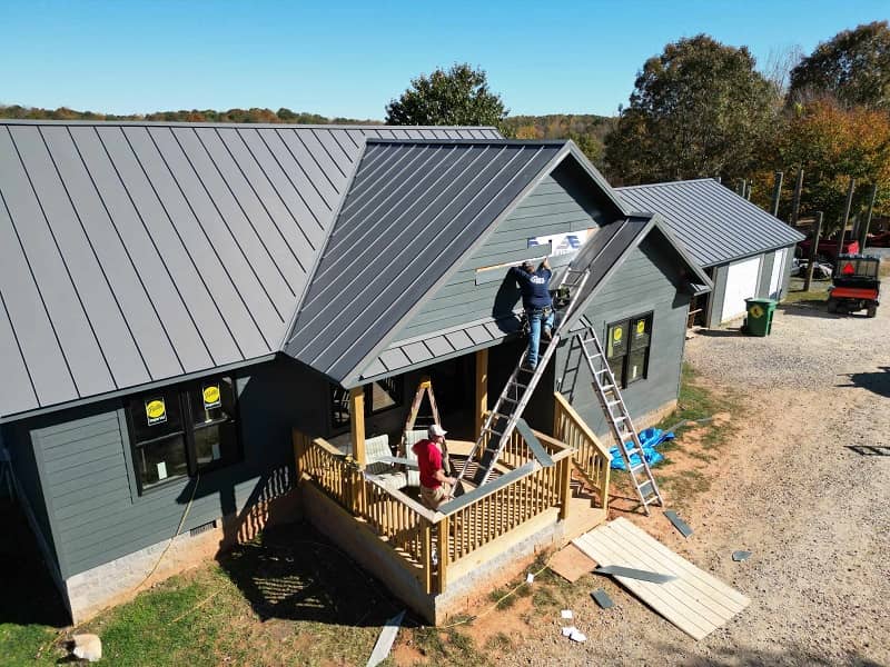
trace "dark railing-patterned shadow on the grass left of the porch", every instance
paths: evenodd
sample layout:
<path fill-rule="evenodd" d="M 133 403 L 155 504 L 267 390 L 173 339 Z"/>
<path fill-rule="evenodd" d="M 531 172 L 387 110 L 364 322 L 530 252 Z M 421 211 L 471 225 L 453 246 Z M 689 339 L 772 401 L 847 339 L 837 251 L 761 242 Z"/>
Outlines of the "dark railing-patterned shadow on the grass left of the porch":
<path fill-rule="evenodd" d="M 264 621 L 379 627 L 404 608 L 307 522 L 268 528 L 218 560 Z"/>

